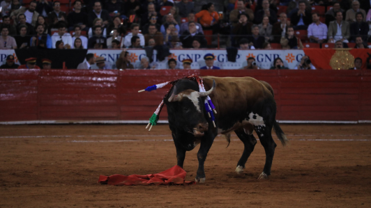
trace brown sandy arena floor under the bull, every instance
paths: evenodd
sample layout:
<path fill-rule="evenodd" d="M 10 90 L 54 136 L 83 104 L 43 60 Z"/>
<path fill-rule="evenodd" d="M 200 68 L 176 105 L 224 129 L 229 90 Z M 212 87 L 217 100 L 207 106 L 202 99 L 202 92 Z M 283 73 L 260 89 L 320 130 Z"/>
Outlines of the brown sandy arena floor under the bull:
<path fill-rule="evenodd" d="M 0 207 L 371 207 L 371 125 L 281 125 L 272 175 L 257 180 L 259 141 L 243 177 L 243 145 L 218 136 L 205 162 L 206 184 L 109 186 L 99 175 L 146 175 L 176 165 L 167 125 L 0 126 Z M 275 137 L 274 137 L 275 138 Z M 195 178 L 198 147 L 187 153 Z"/>

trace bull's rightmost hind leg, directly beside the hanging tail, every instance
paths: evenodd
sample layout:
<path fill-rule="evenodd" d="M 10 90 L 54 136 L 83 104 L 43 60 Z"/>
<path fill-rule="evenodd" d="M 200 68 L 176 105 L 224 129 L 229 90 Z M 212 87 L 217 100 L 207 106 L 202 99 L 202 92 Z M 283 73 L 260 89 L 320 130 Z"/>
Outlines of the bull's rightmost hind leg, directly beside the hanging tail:
<path fill-rule="evenodd" d="M 255 126 L 255 131 L 259 136 L 260 143 L 262 143 L 264 150 L 266 152 L 266 163 L 264 165 L 263 173 L 259 176 L 258 179 L 267 178 L 268 175 L 271 175 L 271 167 L 274 156 L 274 150 L 277 146 L 272 138 L 272 126 Z"/>

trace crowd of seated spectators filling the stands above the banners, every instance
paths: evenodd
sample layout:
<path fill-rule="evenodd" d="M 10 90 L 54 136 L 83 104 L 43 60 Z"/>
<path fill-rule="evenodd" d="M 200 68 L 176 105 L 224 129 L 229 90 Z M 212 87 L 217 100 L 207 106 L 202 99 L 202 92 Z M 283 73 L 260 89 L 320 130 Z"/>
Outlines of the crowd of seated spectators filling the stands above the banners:
<path fill-rule="evenodd" d="M 3 0 L 0 6 L 0 49 L 199 49 L 218 45 L 217 35 L 222 47 L 239 49 L 371 42 L 366 0 L 225 0 L 218 11 L 212 2 L 197 10 L 190 0 Z"/>

